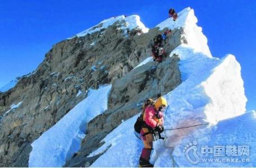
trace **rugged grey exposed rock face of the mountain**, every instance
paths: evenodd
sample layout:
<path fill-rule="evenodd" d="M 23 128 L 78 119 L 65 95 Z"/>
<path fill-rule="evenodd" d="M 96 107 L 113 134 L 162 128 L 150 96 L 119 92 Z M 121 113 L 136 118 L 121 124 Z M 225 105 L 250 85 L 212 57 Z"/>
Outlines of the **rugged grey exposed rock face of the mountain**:
<path fill-rule="evenodd" d="M 141 102 L 156 98 L 161 86 L 164 94 L 181 83 L 176 57 L 132 70 L 151 54 L 152 39 L 161 33 L 158 29 L 141 35 L 131 30 L 126 35 L 117 28 L 118 22 L 106 30 L 61 41 L 45 54 L 35 73 L 0 93 L 1 167 L 27 167 L 30 144 L 36 138 L 83 100 L 89 88 L 113 83 L 108 110 L 88 124 L 80 152 L 66 164 L 89 166 L 98 156 L 86 156 L 122 119 L 138 114 Z M 167 54 L 184 43 L 181 34 L 182 30 L 173 30 L 168 36 L 164 45 Z M 77 96 L 79 90 L 82 94 Z M 21 101 L 19 108 L 5 114 L 12 104 Z"/>

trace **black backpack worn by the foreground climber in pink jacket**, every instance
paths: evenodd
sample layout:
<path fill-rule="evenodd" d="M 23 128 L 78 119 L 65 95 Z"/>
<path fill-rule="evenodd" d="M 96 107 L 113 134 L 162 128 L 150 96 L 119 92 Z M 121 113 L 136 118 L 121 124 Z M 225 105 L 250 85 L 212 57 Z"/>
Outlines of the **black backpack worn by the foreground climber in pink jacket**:
<path fill-rule="evenodd" d="M 136 123 L 134 124 L 134 130 L 136 133 L 140 133 L 140 130 L 141 128 L 145 127 L 145 122 L 143 120 L 143 115 L 144 115 L 144 112 L 145 112 L 145 109 L 147 108 L 147 106 L 149 105 L 154 105 L 154 100 L 152 99 L 147 99 L 145 102 L 144 102 L 144 105 L 143 105 L 143 111 L 142 113 L 140 114 L 140 116 L 137 118 L 136 120 Z"/>

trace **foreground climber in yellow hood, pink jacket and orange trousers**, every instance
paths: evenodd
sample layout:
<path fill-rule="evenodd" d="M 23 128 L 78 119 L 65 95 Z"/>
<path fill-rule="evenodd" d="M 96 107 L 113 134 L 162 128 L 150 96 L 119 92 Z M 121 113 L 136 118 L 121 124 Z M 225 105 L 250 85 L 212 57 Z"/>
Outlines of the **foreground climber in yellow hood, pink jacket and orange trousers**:
<path fill-rule="evenodd" d="M 143 139 L 144 148 L 140 155 L 140 167 L 153 167 L 149 162 L 150 154 L 153 149 L 154 131 L 163 132 L 163 110 L 167 106 L 164 97 L 159 97 L 154 105 L 149 105 L 144 109 L 144 126 L 140 130 Z"/>

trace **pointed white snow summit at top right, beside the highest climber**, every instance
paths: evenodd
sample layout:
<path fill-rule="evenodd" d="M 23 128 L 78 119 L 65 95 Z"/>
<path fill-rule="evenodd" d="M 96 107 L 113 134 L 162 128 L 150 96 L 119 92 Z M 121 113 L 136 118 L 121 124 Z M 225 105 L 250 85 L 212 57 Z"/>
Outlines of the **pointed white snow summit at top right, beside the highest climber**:
<path fill-rule="evenodd" d="M 188 7 L 178 13 L 176 21 L 173 21 L 173 18 L 168 18 L 156 27 L 159 27 L 159 30 L 163 30 L 165 27 L 168 27 L 171 30 L 183 27 L 183 35 L 188 41 L 188 45 L 191 46 L 191 48 L 194 48 L 196 52 L 202 52 L 208 57 L 212 57 L 207 45 L 207 38 L 202 32 L 202 27 L 196 25 L 197 22 L 198 20 L 195 17 L 194 10 Z"/>

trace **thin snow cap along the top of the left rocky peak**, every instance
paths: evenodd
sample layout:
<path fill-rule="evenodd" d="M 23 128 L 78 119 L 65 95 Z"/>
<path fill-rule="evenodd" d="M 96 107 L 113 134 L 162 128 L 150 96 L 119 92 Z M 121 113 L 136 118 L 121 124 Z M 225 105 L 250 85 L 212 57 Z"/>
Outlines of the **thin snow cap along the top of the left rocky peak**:
<path fill-rule="evenodd" d="M 90 27 L 89 29 L 86 29 L 84 31 L 79 32 L 75 36 L 85 36 L 86 34 L 92 34 L 93 32 L 100 31 L 102 29 L 107 29 L 108 26 L 111 26 L 115 24 L 115 22 L 120 22 L 120 29 L 127 30 L 127 29 L 134 29 L 136 27 L 139 27 L 143 32 L 148 32 L 148 28 L 145 27 L 145 25 L 140 21 L 140 17 L 138 15 L 131 15 L 131 16 L 117 16 L 117 17 L 111 17 L 106 20 L 103 20 L 98 25 L 95 25 L 93 27 Z M 75 37 L 74 36 L 74 37 Z M 72 38 L 74 38 L 72 37 Z"/>

